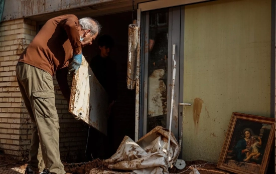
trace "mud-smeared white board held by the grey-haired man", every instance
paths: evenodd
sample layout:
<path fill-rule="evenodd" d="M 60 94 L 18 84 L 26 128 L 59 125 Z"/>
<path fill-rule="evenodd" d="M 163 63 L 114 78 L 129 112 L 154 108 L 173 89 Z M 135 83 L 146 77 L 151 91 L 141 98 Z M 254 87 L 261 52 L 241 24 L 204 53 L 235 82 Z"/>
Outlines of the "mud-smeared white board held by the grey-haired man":
<path fill-rule="evenodd" d="M 69 112 L 107 134 L 108 96 L 82 56 L 82 65 L 73 76 Z"/>

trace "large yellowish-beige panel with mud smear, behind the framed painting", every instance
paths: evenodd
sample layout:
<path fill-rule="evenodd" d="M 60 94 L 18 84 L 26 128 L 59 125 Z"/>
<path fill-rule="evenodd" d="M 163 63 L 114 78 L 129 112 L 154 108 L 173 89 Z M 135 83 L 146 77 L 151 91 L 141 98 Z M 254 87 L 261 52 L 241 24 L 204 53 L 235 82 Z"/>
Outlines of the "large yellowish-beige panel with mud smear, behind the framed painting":
<path fill-rule="evenodd" d="M 185 160 L 218 160 L 232 112 L 270 116 L 270 23 L 271 0 L 185 7 Z"/>

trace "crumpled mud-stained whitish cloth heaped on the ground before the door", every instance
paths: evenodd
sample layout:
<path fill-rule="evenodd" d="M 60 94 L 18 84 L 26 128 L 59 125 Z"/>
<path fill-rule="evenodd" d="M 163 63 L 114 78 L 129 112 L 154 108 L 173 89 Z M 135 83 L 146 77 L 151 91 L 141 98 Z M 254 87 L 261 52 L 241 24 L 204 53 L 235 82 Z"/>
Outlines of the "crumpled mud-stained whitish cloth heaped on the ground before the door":
<path fill-rule="evenodd" d="M 175 163 L 180 153 L 178 142 L 171 133 L 171 144 L 169 154 L 172 158 L 168 161 L 168 139 L 169 130 L 157 126 L 136 143 L 125 136 L 116 153 L 105 162 L 112 170 L 126 170 L 137 174 L 164 173 L 168 174 L 168 167 Z M 96 173 L 97 169 L 92 169 L 90 174 Z M 112 171 L 97 172 L 100 174 L 112 173 Z M 113 172 L 116 173 L 116 172 Z"/>

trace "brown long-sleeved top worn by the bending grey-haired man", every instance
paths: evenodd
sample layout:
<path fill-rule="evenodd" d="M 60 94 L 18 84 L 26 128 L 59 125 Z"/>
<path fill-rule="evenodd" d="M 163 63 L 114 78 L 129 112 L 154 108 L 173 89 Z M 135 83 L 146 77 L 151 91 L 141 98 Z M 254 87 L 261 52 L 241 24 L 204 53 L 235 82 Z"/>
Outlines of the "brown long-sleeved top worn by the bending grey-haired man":
<path fill-rule="evenodd" d="M 73 52 L 81 52 L 79 20 L 75 15 L 63 15 L 46 22 L 22 53 L 19 62 L 45 70 L 53 76 L 68 64 Z"/>

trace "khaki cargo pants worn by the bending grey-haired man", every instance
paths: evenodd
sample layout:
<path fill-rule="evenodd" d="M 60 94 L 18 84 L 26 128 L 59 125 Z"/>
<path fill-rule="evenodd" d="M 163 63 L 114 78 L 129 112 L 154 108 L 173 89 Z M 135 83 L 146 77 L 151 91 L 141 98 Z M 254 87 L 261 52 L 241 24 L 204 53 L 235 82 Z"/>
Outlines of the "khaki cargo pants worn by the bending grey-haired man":
<path fill-rule="evenodd" d="M 19 88 L 33 122 L 28 167 L 38 171 L 40 165 L 41 171 L 46 166 L 52 174 L 64 174 L 59 153 L 59 118 L 53 78 L 48 72 L 22 62 L 18 63 L 16 71 Z"/>

